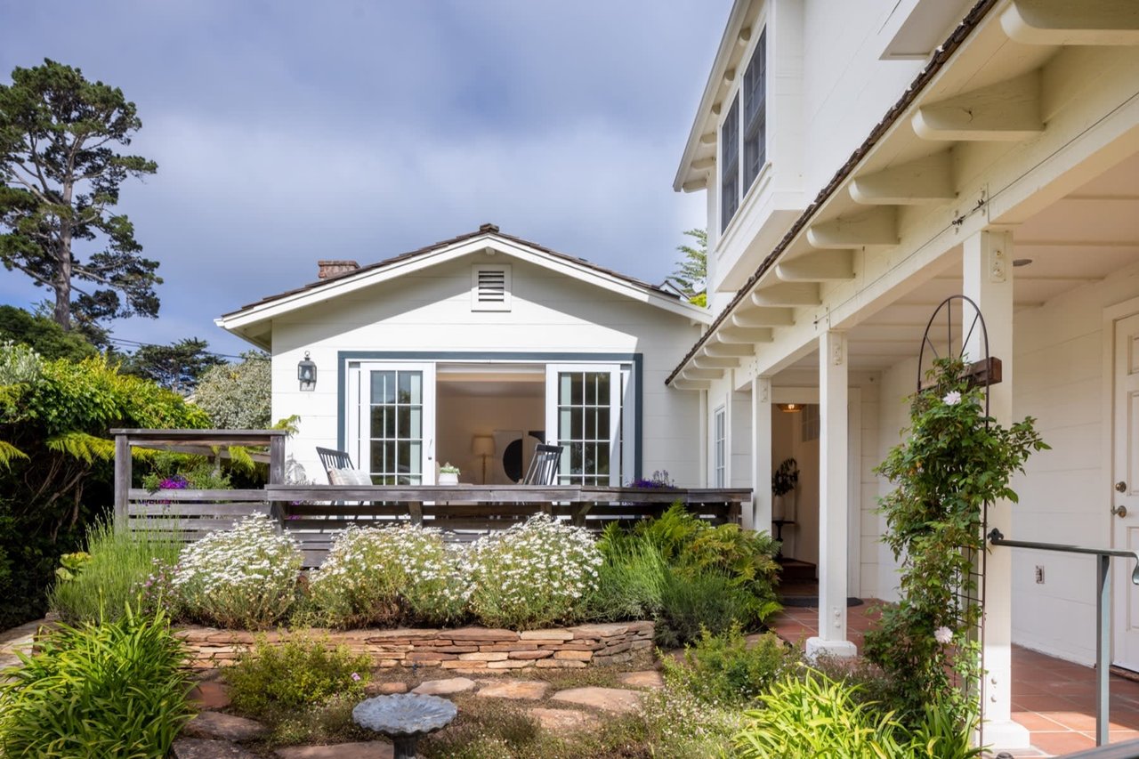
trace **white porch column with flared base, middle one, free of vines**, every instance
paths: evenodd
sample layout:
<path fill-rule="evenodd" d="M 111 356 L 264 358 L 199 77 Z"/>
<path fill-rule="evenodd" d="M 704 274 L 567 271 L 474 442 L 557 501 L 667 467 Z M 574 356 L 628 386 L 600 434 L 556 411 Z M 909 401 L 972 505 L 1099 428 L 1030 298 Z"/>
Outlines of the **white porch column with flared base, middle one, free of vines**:
<path fill-rule="evenodd" d="M 806 655 L 853 656 L 846 639 L 847 460 L 846 335 L 819 336 L 819 636 Z"/>

